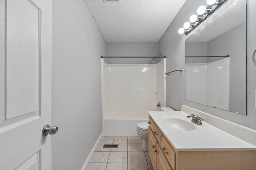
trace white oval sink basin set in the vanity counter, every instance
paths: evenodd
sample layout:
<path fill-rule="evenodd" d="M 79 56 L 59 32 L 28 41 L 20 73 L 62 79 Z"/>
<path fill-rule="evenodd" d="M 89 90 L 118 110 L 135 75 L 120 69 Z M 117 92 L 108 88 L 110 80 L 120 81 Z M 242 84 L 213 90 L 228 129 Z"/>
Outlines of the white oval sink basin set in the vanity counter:
<path fill-rule="evenodd" d="M 196 126 L 190 121 L 191 120 L 186 117 L 168 117 L 164 119 L 164 124 L 181 131 L 193 131 L 196 129 Z"/>

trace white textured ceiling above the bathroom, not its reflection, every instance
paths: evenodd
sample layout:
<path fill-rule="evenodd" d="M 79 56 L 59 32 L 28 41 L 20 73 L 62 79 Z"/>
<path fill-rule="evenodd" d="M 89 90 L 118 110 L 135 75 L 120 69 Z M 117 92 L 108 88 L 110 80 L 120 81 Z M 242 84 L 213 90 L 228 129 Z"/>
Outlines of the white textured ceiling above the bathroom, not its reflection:
<path fill-rule="evenodd" d="M 186 0 L 85 0 L 108 43 L 158 42 Z"/>

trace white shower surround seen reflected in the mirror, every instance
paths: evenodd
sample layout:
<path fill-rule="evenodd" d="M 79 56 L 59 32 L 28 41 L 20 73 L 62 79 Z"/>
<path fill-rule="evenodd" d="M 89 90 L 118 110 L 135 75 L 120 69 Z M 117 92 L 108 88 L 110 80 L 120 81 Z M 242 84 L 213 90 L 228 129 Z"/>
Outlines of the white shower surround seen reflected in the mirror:
<path fill-rule="evenodd" d="M 186 100 L 229 110 L 229 58 L 186 64 Z"/>

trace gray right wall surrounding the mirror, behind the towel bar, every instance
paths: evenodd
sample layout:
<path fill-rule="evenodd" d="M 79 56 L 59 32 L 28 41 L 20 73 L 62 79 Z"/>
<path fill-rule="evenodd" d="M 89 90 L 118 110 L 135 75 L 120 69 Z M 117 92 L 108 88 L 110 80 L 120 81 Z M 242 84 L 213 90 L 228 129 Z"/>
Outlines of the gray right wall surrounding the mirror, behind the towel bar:
<path fill-rule="evenodd" d="M 187 0 L 158 42 L 158 52 L 166 55 L 166 71 L 185 67 L 185 39 L 187 36 L 184 34 L 180 35 L 178 29 L 194 14 L 198 6 L 203 3 L 204 0 Z M 180 110 L 181 105 L 185 104 L 223 119 L 256 129 L 256 109 L 254 108 L 256 66 L 252 63 L 251 59 L 253 50 L 256 47 L 256 31 L 254 31 L 256 29 L 256 1 L 247 0 L 247 4 L 247 115 L 236 115 L 232 112 L 185 101 L 185 72 L 174 72 L 166 78 L 166 106 Z"/>

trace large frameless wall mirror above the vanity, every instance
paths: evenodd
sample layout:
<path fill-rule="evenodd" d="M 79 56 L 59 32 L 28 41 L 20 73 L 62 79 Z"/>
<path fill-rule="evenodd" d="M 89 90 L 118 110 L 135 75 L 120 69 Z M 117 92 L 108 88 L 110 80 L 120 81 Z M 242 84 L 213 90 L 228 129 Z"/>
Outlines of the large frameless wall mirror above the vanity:
<path fill-rule="evenodd" d="M 246 0 L 233 1 L 186 39 L 185 96 L 246 115 Z"/>

